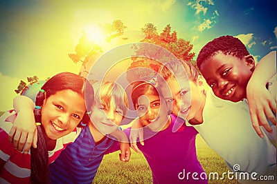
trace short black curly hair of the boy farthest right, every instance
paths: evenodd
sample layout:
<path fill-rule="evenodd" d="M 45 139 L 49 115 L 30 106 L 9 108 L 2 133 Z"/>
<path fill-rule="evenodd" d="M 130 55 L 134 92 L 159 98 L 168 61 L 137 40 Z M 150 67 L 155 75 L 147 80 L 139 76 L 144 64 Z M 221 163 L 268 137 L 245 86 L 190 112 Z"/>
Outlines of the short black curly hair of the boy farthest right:
<path fill-rule="evenodd" d="M 213 39 L 204 45 L 200 50 L 197 61 L 197 67 L 200 69 L 202 63 L 209 57 L 214 56 L 218 52 L 223 54 L 231 54 L 234 57 L 242 59 L 242 57 L 249 55 L 249 52 L 240 39 L 226 35 Z"/>

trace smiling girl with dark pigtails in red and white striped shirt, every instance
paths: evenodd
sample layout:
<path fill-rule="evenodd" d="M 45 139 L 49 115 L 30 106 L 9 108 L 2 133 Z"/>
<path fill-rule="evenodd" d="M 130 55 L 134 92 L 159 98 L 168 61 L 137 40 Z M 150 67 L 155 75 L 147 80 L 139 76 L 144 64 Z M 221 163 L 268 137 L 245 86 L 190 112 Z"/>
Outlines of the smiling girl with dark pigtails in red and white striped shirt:
<path fill-rule="evenodd" d="M 84 95 L 89 101 L 85 103 Z M 90 93 L 88 93 L 90 92 Z M 28 154 L 19 152 L 8 141 L 8 132 L 17 117 L 10 110 L 0 118 L 0 183 L 50 183 L 48 163 L 72 143 L 81 128 L 80 121 L 89 120 L 87 107 L 93 103 L 93 88 L 76 74 L 62 72 L 46 81 L 37 94 L 35 122 L 37 122 L 37 148 Z M 79 125 L 82 126 L 82 125 Z"/>

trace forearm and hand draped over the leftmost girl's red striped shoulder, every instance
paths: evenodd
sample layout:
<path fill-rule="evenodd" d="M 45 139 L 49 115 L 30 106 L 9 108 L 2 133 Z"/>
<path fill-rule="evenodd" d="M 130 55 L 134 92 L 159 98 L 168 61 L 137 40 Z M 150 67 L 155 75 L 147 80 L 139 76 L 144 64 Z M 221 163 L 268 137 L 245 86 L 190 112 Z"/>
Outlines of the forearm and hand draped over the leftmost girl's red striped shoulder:
<path fill-rule="evenodd" d="M 8 140 L 19 151 L 23 150 L 26 143 L 24 153 L 28 153 L 32 143 L 33 147 L 37 147 L 37 127 L 33 113 L 35 104 L 26 96 L 16 96 L 13 103 L 17 118 L 12 125 Z"/>

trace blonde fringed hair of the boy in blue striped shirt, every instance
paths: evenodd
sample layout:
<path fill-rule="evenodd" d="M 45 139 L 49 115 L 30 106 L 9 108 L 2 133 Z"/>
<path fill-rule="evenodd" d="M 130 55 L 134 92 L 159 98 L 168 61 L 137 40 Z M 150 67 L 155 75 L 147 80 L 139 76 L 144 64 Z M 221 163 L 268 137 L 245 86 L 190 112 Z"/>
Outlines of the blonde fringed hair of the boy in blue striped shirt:
<path fill-rule="evenodd" d="M 110 102 L 114 100 L 115 106 L 123 110 L 123 116 L 126 116 L 129 108 L 127 94 L 122 86 L 114 81 L 102 81 L 93 84 L 94 101 L 101 103 L 109 108 Z"/>

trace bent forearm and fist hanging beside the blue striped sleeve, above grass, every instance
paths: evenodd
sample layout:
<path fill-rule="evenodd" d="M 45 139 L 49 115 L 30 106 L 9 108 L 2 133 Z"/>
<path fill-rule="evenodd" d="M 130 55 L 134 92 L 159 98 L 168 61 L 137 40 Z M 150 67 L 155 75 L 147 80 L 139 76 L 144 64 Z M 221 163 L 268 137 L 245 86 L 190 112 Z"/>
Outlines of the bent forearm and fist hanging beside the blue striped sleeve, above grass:
<path fill-rule="evenodd" d="M 111 132 L 111 136 L 114 136 L 120 142 L 120 152 L 119 159 L 120 161 L 127 162 L 131 156 L 131 150 L 129 149 L 129 141 L 124 132 L 119 129 L 116 129 L 114 132 Z"/>

